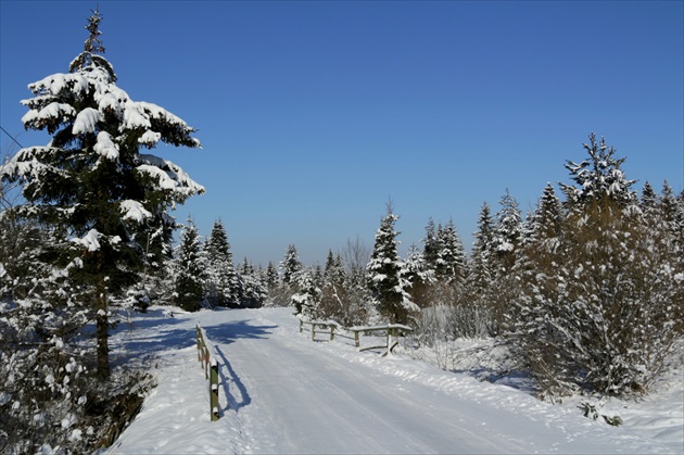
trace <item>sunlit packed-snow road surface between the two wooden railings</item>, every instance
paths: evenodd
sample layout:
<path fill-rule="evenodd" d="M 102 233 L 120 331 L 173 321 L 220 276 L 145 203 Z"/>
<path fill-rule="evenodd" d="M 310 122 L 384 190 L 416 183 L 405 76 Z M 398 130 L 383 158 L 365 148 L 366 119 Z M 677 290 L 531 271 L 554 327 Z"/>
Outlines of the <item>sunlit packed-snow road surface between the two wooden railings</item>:
<path fill-rule="evenodd" d="M 529 452 L 483 428 L 482 416 L 459 413 L 443 394 L 352 368 L 306 337 L 291 337 L 274 333 L 228 347 L 253 404 L 244 413 L 256 452 Z"/>

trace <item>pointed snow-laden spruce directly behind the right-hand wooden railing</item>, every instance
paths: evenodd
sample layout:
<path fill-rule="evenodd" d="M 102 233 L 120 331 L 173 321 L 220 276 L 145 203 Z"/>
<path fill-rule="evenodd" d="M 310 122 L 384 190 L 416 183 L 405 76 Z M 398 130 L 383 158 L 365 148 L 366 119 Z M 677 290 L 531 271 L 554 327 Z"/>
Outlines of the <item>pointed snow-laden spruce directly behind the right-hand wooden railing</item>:
<path fill-rule="evenodd" d="M 391 324 L 413 324 L 420 314 L 408 293 L 410 283 L 406 278 L 404 262 L 397 252 L 400 232 L 394 230 L 398 216 L 392 213 L 388 203 L 388 213 L 380 222 L 376 232 L 376 242 L 366 266 L 366 281 L 371 295 L 371 304 L 381 317 Z"/>

